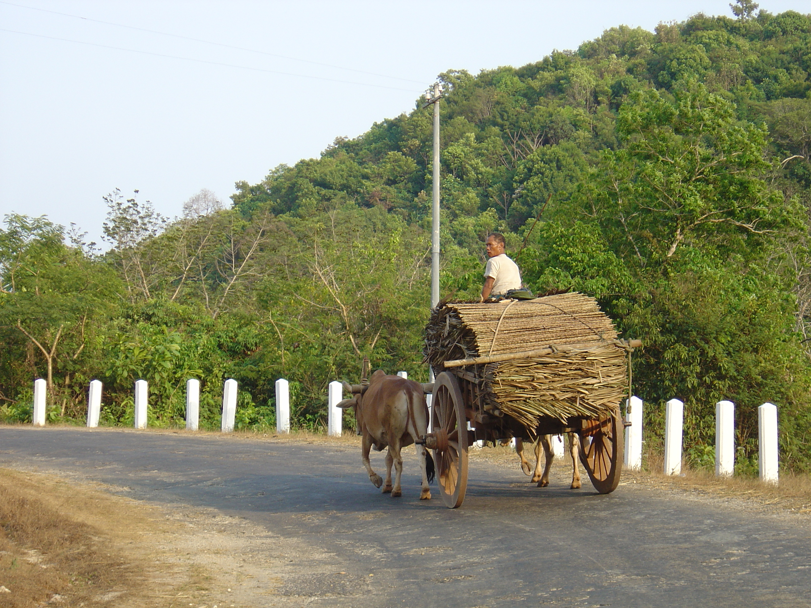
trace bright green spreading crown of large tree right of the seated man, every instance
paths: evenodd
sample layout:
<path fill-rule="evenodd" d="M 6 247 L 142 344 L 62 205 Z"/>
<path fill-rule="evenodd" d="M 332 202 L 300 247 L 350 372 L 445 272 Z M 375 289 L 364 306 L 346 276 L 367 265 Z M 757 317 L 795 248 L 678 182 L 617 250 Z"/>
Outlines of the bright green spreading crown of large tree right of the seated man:
<path fill-rule="evenodd" d="M 671 103 L 638 92 L 620 109 L 625 146 L 603 152 L 586 188 L 612 242 L 639 268 L 659 268 L 689 244 L 707 255 L 756 254 L 799 228 L 800 210 L 761 178 L 766 131 L 740 125 L 734 107 L 702 85 Z"/>

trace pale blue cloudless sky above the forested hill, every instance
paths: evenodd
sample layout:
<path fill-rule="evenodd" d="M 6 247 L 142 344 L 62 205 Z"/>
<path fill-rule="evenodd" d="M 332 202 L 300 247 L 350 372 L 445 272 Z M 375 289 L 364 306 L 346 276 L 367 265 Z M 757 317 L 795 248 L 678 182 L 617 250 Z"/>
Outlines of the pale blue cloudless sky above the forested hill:
<path fill-rule="evenodd" d="M 0 2 L 0 29 L 49 36 L 0 31 L 0 216 L 46 214 L 100 240 L 114 187 L 167 216 L 200 188 L 230 202 L 234 182 L 409 111 L 441 71 L 521 66 L 618 24 L 652 31 L 699 11 L 731 15 L 728 0 Z"/>

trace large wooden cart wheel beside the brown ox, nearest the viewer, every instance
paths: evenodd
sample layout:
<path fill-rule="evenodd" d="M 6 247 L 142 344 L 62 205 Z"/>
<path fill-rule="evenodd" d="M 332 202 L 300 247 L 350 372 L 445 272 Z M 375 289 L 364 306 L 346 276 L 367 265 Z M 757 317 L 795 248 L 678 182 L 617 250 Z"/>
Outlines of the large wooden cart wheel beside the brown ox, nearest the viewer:
<path fill-rule="evenodd" d="M 431 432 L 436 435 L 434 462 L 442 502 L 459 507 L 467 489 L 467 418 L 457 379 L 447 372 L 436 376 L 431 399 Z"/>

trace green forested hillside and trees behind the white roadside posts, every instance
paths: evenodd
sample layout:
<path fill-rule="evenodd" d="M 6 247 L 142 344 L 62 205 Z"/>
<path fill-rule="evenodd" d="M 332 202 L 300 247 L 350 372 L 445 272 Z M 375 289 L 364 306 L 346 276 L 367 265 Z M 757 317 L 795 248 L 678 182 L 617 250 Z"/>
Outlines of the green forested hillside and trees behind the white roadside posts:
<path fill-rule="evenodd" d="M 652 434 L 678 396 L 689 459 L 708 465 L 714 403 L 733 400 L 745 472 L 770 400 L 784 461 L 809 468 L 811 15 L 735 8 L 440 75 L 442 292 L 477 295 L 483 238 L 504 232 L 532 289 L 593 294 L 644 340 L 635 392 Z M 131 420 L 139 377 L 154 422 L 172 424 L 182 382 L 200 376 L 211 424 L 233 376 L 242 426 L 272 422 L 280 375 L 305 426 L 363 355 L 424 377 L 431 169 L 431 109 L 417 101 L 318 159 L 239 182 L 230 209 L 165 222 L 114 193 L 101 257 L 46 221 L 8 218 L 0 411 L 24 417 L 49 358 L 54 416 L 78 416 L 99 377 L 109 423 Z"/>

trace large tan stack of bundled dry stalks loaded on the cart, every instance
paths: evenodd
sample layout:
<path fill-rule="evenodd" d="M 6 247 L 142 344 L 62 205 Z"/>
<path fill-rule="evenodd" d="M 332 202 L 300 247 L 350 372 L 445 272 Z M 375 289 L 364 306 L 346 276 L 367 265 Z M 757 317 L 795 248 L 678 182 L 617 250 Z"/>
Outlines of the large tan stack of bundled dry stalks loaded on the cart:
<path fill-rule="evenodd" d="M 484 408 L 500 409 L 532 433 L 543 416 L 565 422 L 616 409 L 628 390 L 626 351 L 616 338 L 611 319 L 581 293 L 440 302 L 423 353 L 435 374 L 474 375 Z"/>

